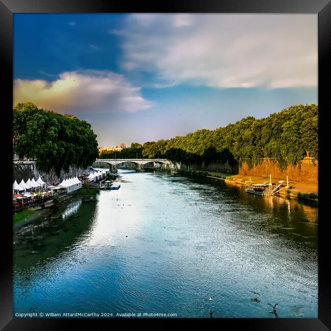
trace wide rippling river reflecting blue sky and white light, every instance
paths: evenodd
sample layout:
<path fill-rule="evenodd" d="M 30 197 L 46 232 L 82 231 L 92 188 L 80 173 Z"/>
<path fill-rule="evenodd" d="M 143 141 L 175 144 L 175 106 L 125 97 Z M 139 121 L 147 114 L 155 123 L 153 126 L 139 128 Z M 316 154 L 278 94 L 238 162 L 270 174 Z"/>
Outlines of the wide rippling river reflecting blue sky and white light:
<path fill-rule="evenodd" d="M 316 206 L 212 178 L 119 174 L 119 190 L 16 233 L 14 316 L 318 317 Z"/>

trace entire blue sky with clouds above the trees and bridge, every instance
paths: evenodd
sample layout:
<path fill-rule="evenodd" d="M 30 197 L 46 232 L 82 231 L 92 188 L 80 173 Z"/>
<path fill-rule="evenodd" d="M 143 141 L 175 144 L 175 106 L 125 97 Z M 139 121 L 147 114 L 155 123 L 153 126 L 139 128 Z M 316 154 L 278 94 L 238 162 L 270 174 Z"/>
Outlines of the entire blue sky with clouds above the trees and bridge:
<path fill-rule="evenodd" d="M 316 14 L 14 14 L 13 100 L 129 146 L 317 104 Z"/>

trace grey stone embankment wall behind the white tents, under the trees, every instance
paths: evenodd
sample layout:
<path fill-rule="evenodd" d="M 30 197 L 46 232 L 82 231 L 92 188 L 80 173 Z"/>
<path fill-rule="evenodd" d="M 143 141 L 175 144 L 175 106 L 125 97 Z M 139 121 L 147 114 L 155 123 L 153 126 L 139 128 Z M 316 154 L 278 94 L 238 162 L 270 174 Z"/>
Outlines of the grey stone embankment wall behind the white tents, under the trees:
<path fill-rule="evenodd" d="M 87 173 L 88 169 L 71 168 L 68 173 L 61 171 L 59 177 L 53 171 L 50 171 L 49 173 L 40 172 L 35 164 L 13 164 L 13 182 L 16 179 L 17 183 L 20 183 L 22 179 L 26 182 L 27 179 L 32 179 L 32 177 L 37 180 L 40 176 L 44 182 L 48 182 L 48 185 L 52 185 L 57 183 L 60 178 L 86 176 Z"/>

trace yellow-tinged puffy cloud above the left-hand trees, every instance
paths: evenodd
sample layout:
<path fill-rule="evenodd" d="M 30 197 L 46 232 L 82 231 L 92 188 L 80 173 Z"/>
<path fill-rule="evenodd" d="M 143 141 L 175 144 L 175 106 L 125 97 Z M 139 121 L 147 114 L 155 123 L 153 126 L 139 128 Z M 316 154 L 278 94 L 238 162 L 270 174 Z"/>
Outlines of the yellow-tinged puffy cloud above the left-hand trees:
<path fill-rule="evenodd" d="M 133 113 L 153 106 L 140 90 L 107 70 L 68 71 L 51 82 L 15 79 L 14 105 L 31 101 L 60 113 Z"/>

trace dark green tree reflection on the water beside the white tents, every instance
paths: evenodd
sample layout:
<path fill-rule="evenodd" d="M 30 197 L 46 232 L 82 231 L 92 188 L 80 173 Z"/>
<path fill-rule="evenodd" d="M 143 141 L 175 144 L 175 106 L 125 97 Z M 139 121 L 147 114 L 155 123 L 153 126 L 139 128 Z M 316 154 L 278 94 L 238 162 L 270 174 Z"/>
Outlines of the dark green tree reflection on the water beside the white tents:
<path fill-rule="evenodd" d="M 65 212 L 76 212 L 67 215 Z M 33 225 L 33 231 L 17 233 L 14 246 L 14 278 L 30 281 L 34 275 L 42 274 L 47 270 L 55 270 L 50 264 L 58 263 L 61 256 L 69 253 L 71 247 L 81 241 L 91 232 L 93 227 L 96 202 L 80 200 L 70 203 L 64 211 L 56 216 L 49 216 L 47 220 L 39 220 Z M 35 253 L 32 253 L 35 252 Z"/>

